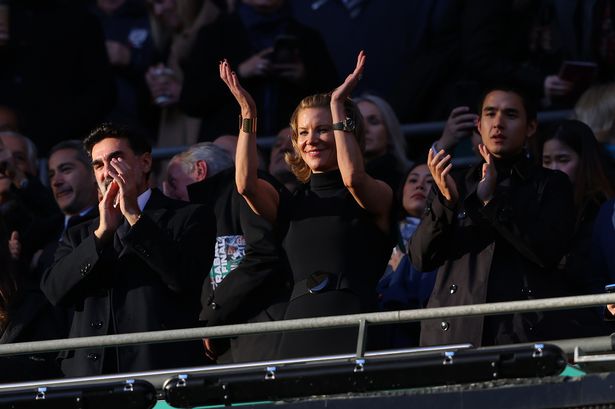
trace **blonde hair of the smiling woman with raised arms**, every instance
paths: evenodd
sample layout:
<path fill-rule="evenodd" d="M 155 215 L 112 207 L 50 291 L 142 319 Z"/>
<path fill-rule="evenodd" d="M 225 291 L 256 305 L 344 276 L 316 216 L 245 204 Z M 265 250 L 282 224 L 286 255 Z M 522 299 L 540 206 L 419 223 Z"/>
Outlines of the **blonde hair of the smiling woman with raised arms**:
<path fill-rule="evenodd" d="M 293 144 L 294 152 L 287 152 L 284 154 L 284 160 L 290 166 L 291 172 L 299 179 L 302 183 L 307 183 L 312 176 L 312 170 L 305 163 L 303 158 L 301 158 L 301 148 L 299 147 L 299 143 L 297 139 L 299 134 L 297 132 L 297 119 L 299 116 L 299 112 L 308 108 L 324 108 L 331 109 L 331 94 L 314 94 L 309 97 L 305 97 L 299 102 L 297 108 L 293 112 L 290 117 L 290 129 L 291 129 L 291 141 Z M 361 112 L 351 99 L 346 99 L 344 101 L 344 110 L 346 111 L 346 117 L 352 118 L 355 123 L 354 136 L 359 143 L 359 147 L 361 148 L 361 152 L 365 150 L 365 126 L 363 125 L 363 117 L 361 116 Z"/>

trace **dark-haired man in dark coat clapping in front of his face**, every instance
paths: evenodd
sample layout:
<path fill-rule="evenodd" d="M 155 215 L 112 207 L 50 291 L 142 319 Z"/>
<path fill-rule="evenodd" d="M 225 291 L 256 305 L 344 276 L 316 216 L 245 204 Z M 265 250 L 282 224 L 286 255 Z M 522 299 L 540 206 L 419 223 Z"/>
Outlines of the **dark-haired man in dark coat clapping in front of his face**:
<path fill-rule="evenodd" d="M 70 337 L 196 326 L 216 226 L 203 206 L 148 187 L 149 143 L 110 124 L 85 140 L 103 194 L 100 216 L 69 229 L 41 288 L 75 311 Z M 68 376 L 204 363 L 200 342 L 91 348 L 62 355 Z"/>

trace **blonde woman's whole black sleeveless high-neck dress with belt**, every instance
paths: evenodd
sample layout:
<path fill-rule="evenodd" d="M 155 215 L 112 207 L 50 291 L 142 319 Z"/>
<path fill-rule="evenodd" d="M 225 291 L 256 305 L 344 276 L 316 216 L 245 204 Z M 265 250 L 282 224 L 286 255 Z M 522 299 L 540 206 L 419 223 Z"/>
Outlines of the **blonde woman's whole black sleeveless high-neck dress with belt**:
<path fill-rule="evenodd" d="M 376 284 L 394 240 L 359 207 L 339 170 L 313 174 L 309 185 L 280 208 L 279 217 L 288 226 L 283 246 L 294 277 L 285 319 L 377 311 Z M 279 357 L 352 353 L 357 332 L 288 332 L 282 336 Z"/>

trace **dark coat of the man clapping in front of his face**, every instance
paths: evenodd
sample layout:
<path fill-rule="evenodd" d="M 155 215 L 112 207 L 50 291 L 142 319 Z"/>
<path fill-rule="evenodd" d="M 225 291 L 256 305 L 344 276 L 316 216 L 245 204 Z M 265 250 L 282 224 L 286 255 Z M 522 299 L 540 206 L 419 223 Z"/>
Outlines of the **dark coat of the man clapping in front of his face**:
<path fill-rule="evenodd" d="M 70 229 L 41 288 L 54 305 L 75 311 L 70 337 L 195 326 L 216 235 L 210 210 L 154 189 L 123 238 L 97 248 L 98 219 Z M 119 230 L 119 229 L 118 229 Z M 70 376 L 202 363 L 200 342 L 92 348 L 64 354 Z"/>

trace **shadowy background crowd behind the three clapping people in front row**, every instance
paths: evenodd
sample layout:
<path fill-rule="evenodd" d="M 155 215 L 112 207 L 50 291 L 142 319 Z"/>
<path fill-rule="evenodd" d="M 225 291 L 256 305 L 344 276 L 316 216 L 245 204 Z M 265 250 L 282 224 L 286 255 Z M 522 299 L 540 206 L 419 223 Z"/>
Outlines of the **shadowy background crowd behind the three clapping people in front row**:
<path fill-rule="evenodd" d="M 380 309 L 427 304 L 435 273 L 416 271 L 407 254 L 433 182 L 427 150 L 478 162 L 479 98 L 503 81 L 541 112 L 566 111 L 527 150 L 573 185 L 574 235 L 557 267 L 569 294 L 602 290 L 588 269 L 615 282 L 615 1 L 0 0 L 0 342 L 68 334 L 72 312 L 52 307 L 39 282 L 69 219 L 97 206 L 80 143 L 91 129 L 122 123 L 182 151 L 155 161 L 151 184 L 189 201 L 188 185 L 233 167 L 239 112 L 218 68 L 227 59 L 258 107 L 259 171 L 292 192 L 294 107 L 340 84 L 360 50 L 366 171 L 391 187 L 398 210 Z M 434 121 L 437 135 L 403 132 Z M 28 331 L 8 330 L 21 322 Z M 418 332 L 388 336 L 412 346 Z"/>

